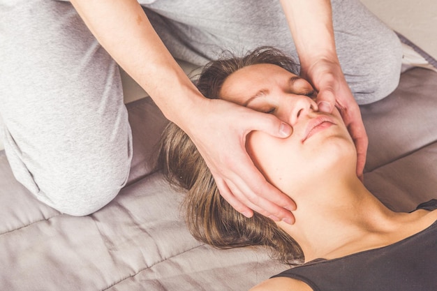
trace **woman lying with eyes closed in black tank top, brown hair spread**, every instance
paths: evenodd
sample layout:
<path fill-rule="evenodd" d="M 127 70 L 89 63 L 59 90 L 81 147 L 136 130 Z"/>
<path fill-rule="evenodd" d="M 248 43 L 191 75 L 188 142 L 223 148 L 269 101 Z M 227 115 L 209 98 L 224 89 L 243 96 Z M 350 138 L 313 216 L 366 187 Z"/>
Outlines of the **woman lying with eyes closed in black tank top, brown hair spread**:
<path fill-rule="evenodd" d="M 294 225 L 223 200 L 188 136 L 174 124 L 163 135 L 160 163 L 188 190 L 193 236 L 218 248 L 267 246 L 293 267 L 253 290 L 437 290 L 437 200 L 393 212 L 356 176 L 355 146 L 338 111 L 318 111 L 311 84 L 292 73 L 292 59 L 262 47 L 244 58 L 213 61 L 198 87 L 276 115 L 294 131 L 286 140 L 252 132 L 246 148 L 266 179 L 297 204 Z"/>

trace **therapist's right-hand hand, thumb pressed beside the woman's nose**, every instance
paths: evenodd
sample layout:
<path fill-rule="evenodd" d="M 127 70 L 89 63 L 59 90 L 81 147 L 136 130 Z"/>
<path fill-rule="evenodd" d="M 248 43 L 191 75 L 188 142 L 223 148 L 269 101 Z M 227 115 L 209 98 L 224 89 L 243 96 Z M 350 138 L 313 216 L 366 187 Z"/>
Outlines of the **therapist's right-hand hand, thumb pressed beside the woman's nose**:
<path fill-rule="evenodd" d="M 361 117 L 360 107 L 346 83 L 339 63 L 319 60 L 305 72 L 318 91 L 316 102 L 320 111 L 332 112 L 338 108 L 357 147 L 357 176 L 363 180 L 364 164 L 369 140 Z"/>

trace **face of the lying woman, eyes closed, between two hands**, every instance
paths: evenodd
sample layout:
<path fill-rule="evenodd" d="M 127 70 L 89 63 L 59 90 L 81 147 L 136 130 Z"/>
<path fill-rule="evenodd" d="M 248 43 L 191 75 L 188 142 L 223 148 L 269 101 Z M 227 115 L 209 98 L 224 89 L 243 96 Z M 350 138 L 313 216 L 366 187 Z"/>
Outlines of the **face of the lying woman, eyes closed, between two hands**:
<path fill-rule="evenodd" d="M 292 126 L 286 139 L 254 131 L 246 141 L 253 163 L 284 193 L 306 188 L 321 175 L 355 174 L 355 145 L 339 111 L 319 112 L 306 80 L 279 66 L 256 64 L 227 77 L 219 96 Z"/>

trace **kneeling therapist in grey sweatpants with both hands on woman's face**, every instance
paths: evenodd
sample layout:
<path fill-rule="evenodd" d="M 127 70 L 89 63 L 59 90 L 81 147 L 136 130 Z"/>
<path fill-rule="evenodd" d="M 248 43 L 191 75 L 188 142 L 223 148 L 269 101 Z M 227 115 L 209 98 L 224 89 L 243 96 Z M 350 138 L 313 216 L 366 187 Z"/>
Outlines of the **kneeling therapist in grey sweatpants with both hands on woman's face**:
<path fill-rule="evenodd" d="M 131 131 L 117 64 L 191 137 L 232 207 L 286 223 L 295 203 L 256 170 L 245 140 L 252 130 L 286 138 L 292 128 L 203 98 L 175 58 L 202 65 L 227 49 L 288 52 L 318 91 L 320 110 L 339 108 L 359 177 L 367 136 L 358 103 L 384 98 L 399 82 L 399 39 L 358 0 L 0 3 L 8 160 L 39 200 L 77 216 L 110 202 L 128 177 Z"/>

